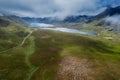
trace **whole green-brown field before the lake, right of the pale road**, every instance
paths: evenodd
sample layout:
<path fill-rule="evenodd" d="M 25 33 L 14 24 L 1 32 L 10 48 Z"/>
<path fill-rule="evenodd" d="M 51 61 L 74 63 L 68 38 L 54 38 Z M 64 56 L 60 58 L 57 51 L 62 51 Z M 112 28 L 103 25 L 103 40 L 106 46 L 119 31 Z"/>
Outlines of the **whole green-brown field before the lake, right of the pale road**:
<path fill-rule="evenodd" d="M 119 80 L 119 61 L 119 39 L 38 29 L 0 54 L 0 80 Z"/>

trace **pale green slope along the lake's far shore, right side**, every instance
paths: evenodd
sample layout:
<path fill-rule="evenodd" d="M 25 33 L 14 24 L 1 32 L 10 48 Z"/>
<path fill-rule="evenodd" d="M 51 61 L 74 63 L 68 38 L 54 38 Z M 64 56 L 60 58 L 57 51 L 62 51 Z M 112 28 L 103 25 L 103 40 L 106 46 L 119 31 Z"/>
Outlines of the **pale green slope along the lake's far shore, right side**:
<path fill-rule="evenodd" d="M 114 31 L 109 31 L 112 29 L 112 27 L 107 25 L 98 25 L 100 24 L 104 19 L 94 20 L 90 23 L 64 23 L 64 24 L 54 24 L 57 27 L 66 27 L 71 29 L 77 29 L 80 31 L 87 31 L 87 32 L 95 32 L 99 35 L 99 37 L 103 38 L 116 38 L 119 37 L 119 33 Z"/>

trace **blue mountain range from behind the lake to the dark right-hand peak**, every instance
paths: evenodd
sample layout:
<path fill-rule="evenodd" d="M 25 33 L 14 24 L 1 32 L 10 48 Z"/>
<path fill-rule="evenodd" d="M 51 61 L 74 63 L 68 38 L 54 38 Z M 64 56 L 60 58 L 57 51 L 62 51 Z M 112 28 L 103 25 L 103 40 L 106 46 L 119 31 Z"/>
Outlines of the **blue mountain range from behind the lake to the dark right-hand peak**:
<path fill-rule="evenodd" d="M 120 6 L 117 7 L 107 7 L 106 10 L 99 13 L 95 16 L 88 16 L 88 15 L 78 15 L 78 16 L 67 16 L 63 20 L 59 20 L 57 18 L 52 17 L 45 17 L 45 18 L 34 18 L 34 17 L 22 17 L 23 20 L 27 22 L 39 22 L 39 23 L 78 23 L 78 22 L 90 22 L 95 19 L 105 18 L 107 16 L 119 15 L 120 14 Z"/>

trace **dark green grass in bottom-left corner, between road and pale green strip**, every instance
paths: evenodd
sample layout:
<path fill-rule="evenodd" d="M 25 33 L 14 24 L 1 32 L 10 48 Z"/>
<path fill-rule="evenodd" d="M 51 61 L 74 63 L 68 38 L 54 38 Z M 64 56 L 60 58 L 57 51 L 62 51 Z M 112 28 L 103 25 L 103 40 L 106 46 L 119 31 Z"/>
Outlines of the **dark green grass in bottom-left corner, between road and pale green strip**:
<path fill-rule="evenodd" d="M 0 55 L 0 80 L 26 79 L 29 67 L 24 61 L 23 50 L 19 48 Z"/>

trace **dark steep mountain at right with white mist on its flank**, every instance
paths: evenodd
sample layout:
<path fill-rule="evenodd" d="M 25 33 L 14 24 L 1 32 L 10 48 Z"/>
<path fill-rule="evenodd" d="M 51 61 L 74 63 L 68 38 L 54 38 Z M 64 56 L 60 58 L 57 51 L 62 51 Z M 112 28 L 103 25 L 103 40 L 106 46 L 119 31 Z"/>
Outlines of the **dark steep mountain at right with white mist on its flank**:
<path fill-rule="evenodd" d="M 102 28 L 110 32 L 120 32 L 120 6 L 107 7 L 106 10 L 93 17 L 88 25 L 94 26 L 95 29 Z"/>

